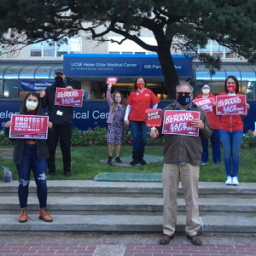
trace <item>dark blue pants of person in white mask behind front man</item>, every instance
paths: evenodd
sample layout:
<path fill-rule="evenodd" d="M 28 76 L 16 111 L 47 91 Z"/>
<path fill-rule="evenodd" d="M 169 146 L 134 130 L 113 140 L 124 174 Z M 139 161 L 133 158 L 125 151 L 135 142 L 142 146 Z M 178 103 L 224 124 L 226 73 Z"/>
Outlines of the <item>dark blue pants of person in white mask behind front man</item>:
<path fill-rule="evenodd" d="M 220 154 L 219 130 L 213 129 L 213 133 L 211 136 L 211 143 L 212 143 L 212 159 L 214 162 L 220 162 L 221 154 Z M 207 162 L 207 160 L 208 160 L 208 139 L 201 137 L 201 145 L 203 148 L 203 153 L 201 154 L 201 161 Z"/>

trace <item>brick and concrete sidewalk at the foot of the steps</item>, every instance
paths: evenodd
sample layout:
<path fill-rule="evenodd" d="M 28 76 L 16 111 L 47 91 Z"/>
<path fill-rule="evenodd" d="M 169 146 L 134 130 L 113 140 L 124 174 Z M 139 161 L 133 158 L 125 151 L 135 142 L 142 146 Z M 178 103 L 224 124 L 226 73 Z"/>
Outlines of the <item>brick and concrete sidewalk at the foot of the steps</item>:
<path fill-rule="evenodd" d="M 160 234 L 0 236 L 1 256 L 227 256 L 256 255 L 255 237 L 201 236 L 193 246 L 185 236 L 175 236 L 160 246 Z"/>

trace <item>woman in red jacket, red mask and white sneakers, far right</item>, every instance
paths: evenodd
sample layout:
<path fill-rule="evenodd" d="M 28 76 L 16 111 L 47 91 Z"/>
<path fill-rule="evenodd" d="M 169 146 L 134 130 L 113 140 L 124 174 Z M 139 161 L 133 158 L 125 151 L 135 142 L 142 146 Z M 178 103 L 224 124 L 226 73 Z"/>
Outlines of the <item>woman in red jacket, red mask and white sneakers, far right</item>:
<path fill-rule="evenodd" d="M 234 76 L 229 76 L 225 80 L 225 92 L 220 93 L 223 96 L 236 96 L 239 93 L 238 80 Z M 247 104 L 247 113 L 250 105 Z M 220 119 L 219 135 L 224 148 L 224 166 L 227 175 L 226 185 L 238 185 L 238 172 L 240 166 L 239 150 L 241 139 L 243 137 L 242 118 L 247 116 L 241 115 L 222 115 Z M 233 166 L 233 172 L 232 172 Z"/>

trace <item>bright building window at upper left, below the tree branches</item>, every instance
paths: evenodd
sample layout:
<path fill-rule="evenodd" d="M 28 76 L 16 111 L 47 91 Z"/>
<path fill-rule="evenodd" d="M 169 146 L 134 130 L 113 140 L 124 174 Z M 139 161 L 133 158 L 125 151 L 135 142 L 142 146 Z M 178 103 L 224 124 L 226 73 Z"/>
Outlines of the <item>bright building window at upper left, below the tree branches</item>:
<path fill-rule="evenodd" d="M 64 54 L 80 54 L 82 51 L 81 38 L 69 38 L 67 44 L 57 44 L 53 40 L 30 46 L 31 57 L 62 57 Z"/>

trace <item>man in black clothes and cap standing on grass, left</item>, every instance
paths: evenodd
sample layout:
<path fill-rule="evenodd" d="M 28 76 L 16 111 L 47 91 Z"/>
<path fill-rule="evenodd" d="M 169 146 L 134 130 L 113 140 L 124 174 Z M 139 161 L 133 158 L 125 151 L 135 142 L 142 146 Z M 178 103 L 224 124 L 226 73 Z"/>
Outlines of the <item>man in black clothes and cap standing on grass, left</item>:
<path fill-rule="evenodd" d="M 55 84 L 50 85 L 40 93 L 43 108 L 48 106 L 49 121 L 53 123 L 53 132 L 49 134 L 47 145 L 49 148 L 49 159 L 47 160 L 50 177 L 55 177 L 55 150 L 60 136 L 60 145 L 63 161 L 63 170 L 67 177 L 71 174 L 71 137 L 73 130 L 73 108 L 55 105 L 56 88 L 72 90 L 71 86 L 64 83 L 65 72 L 62 68 L 55 69 Z"/>

